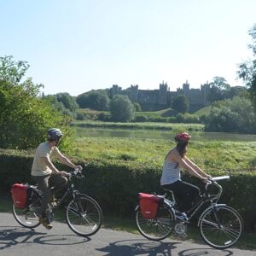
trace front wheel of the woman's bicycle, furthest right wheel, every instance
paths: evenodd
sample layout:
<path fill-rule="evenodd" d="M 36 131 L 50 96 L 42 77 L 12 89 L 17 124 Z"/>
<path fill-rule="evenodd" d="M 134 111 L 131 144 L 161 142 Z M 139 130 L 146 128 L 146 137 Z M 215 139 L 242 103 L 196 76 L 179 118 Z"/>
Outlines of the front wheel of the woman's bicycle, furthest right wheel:
<path fill-rule="evenodd" d="M 242 219 L 235 209 L 218 206 L 202 213 L 199 224 L 201 237 L 209 246 L 225 249 L 232 247 L 241 236 Z"/>

